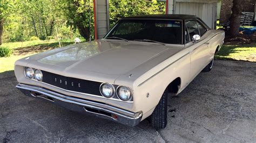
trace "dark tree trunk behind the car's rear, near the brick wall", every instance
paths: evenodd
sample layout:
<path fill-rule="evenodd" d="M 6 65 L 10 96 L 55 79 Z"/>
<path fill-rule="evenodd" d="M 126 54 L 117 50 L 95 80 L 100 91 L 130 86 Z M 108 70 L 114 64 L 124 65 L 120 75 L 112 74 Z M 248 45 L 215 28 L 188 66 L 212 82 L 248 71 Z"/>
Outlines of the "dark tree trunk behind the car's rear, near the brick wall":
<path fill-rule="evenodd" d="M 233 0 L 232 15 L 230 20 L 229 34 L 232 37 L 239 34 L 240 17 L 242 12 L 242 3 L 244 0 Z"/>

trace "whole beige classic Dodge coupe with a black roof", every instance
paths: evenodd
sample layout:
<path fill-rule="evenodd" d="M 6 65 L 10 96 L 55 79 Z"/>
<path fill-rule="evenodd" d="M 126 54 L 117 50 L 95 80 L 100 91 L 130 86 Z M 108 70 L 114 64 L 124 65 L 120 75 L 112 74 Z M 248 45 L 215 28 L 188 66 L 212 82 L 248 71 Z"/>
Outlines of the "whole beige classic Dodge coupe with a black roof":
<path fill-rule="evenodd" d="M 70 110 L 136 126 L 167 123 L 167 97 L 210 71 L 225 34 L 191 15 L 119 20 L 103 39 L 23 58 L 16 86 Z M 44 107 L 41 107 L 44 108 Z"/>

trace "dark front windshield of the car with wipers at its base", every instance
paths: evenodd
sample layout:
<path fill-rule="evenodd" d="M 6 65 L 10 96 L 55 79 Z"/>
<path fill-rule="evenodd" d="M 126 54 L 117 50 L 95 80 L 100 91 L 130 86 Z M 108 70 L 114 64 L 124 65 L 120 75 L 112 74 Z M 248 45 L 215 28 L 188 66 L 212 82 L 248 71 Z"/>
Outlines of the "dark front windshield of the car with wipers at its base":
<path fill-rule="evenodd" d="M 105 38 L 181 44 L 181 26 L 181 20 L 122 19 Z"/>

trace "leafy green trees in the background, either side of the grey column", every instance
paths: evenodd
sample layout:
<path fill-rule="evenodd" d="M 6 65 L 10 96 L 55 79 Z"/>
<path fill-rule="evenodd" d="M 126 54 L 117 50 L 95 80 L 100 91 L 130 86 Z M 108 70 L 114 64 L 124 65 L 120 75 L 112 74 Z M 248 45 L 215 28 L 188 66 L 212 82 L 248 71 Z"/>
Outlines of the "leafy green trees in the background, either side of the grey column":
<path fill-rule="evenodd" d="M 94 39 L 92 0 L 0 0 L 4 18 L 3 42 Z M 110 27 L 125 16 L 164 13 L 165 2 L 110 0 Z M 91 28 L 90 28 L 91 27 Z M 58 34 L 57 34 L 58 33 Z M 35 38 L 33 38 L 35 39 Z"/>

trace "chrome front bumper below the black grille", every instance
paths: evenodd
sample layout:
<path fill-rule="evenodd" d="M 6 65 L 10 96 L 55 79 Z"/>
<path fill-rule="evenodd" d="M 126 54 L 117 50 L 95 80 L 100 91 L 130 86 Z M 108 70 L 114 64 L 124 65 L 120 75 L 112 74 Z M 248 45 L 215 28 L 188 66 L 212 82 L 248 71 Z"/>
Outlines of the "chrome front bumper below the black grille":
<path fill-rule="evenodd" d="M 64 108 L 72 111 L 82 112 L 87 115 L 94 115 L 128 126 L 138 125 L 143 115 L 142 112 L 133 113 L 104 103 L 70 97 L 32 85 L 19 83 L 16 85 L 16 88 L 21 90 L 26 96 L 44 99 L 45 101 L 50 101 L 53 104 L 63 106 Z"/>

